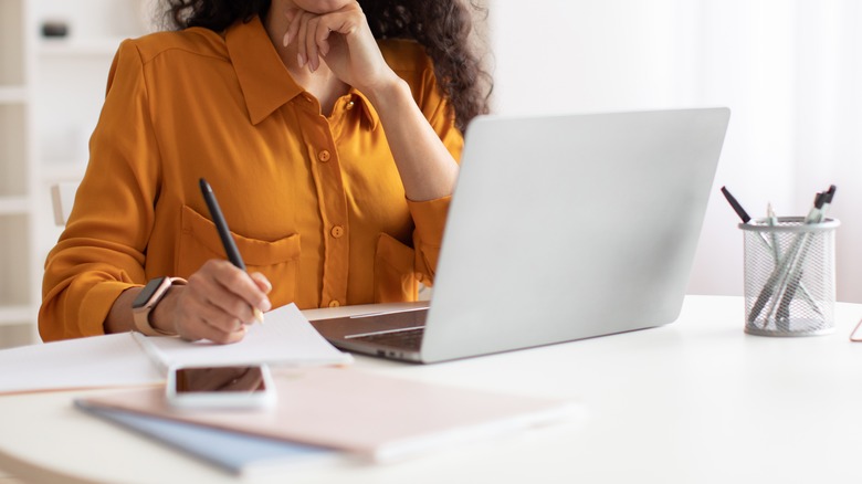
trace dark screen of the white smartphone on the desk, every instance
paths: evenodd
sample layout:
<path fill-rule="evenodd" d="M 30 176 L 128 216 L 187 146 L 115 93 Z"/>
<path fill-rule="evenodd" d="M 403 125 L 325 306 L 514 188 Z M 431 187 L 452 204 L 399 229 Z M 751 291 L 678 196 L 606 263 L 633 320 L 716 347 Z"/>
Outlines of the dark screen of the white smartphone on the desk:
<path fill-rule="evenodd" d="M 259 366 L 179 368 L 175 390 L 177 394 L 248 393 L 265 391 L 266 383 Z"/>

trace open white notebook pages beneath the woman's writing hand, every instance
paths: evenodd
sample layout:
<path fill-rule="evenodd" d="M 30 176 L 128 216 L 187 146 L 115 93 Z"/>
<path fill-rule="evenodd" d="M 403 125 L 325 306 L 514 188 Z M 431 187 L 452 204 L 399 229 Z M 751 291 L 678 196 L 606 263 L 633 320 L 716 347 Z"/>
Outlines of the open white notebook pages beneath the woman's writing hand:
<path fill-rule="evenodd" d="M 293 304 L 267 313 L 265 324 L 253 325 L 245 338 L 233 345 L 133 335 L 137 334 L 0 350 L 0 394 L 156 385 L 165 381 L 167 366 L 179 364 L 318 366 L 353 361 L 350 355 L 324 339 Z"/>

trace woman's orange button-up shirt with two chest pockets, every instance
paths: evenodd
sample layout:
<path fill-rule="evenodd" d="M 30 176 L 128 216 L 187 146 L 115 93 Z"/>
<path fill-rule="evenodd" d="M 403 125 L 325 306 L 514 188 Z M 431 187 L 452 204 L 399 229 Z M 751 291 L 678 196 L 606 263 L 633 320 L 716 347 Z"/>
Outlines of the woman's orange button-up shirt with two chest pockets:
<path fill-rule="evenodd" d="M 380 49 L 458 159 L 463 139 L 424 51 Z M 221 35 L 192 28 L 125 41 L 90 148 L 45 263 L 44 340 L 102 334 L 126 288 L 224 257 L 201 177 L 249 270 L 273 283 L 275 307 L 410 301 L 412 280 L 433 278 L 449 198 L 407 200 L 368 99 L 351 90 L 322 116 L 259 19 Z"/>

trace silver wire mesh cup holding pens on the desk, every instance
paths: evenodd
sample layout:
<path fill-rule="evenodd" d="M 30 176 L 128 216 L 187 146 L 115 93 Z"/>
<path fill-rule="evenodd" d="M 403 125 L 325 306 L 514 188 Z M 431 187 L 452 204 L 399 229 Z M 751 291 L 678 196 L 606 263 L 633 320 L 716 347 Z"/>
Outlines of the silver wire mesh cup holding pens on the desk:
<path fill-rule="evenodd" d="M 801 217 L 740 223 L 745 248 L 745 332 L 814 336 L 834 330 L 838 220 Z"/>

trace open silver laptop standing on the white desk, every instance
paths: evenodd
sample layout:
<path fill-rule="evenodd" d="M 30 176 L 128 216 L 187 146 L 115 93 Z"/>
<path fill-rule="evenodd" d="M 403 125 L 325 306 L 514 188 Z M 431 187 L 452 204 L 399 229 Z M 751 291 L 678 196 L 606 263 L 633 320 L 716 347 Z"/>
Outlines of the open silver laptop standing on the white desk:
<path fill-rule="evenodd" d="M 437 362 L 674 322 L 729 114 L 475 118 L 431 301 L 313 324 L 344 350 Z"/>

